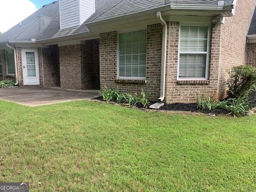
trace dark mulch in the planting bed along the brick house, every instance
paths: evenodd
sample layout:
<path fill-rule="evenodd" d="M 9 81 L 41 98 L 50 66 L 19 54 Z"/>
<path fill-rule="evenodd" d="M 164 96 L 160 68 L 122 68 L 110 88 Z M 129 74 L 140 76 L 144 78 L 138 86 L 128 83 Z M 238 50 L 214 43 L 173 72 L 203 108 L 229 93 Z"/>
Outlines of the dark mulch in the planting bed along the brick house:
<path fill-rule="evenodd" d="M 94 100 L 100 100 L 103 101 L 102 96 L 94 98 Z M 250 94 L 248 97 L 248 100 L 252 102 L 252 106 L 256 107 L 256 92 L 253 92 Z M 156 101 L 149 101 L 150 103 L 145 107 L 149 108 L 150 105 L 156 103 Z M 137 105 L 137 108 L 143 108 L 143 106 Z M 168 110 L 168 111 L 187 111 L 187 112 L 196 112 L 196 113 L 204 113 L 204 114 L 209 114 L 209 113 L 214 113 L 216 115 L 226 115 L 228 112 L 224 109 L 220 110 L 200 110 L 197 108 L 195 103 L 189 103 L 189 104 L 184 104 L 184 103 L 172 103 L 172 104 L 164 104 L 164 106 L 160 107 L 159 110 Z"/>

